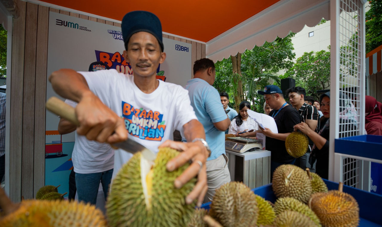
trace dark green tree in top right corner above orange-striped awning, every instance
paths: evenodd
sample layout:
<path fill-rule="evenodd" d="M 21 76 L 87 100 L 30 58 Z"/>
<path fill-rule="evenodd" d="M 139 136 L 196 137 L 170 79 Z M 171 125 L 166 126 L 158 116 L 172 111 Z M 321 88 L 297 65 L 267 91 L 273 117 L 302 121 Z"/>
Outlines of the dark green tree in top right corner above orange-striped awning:
<path fill-rule="evenodd" d="M 365 13 L 366 53 L 382 45 L 382 1 L 370 0 L 370 9 Z"/>

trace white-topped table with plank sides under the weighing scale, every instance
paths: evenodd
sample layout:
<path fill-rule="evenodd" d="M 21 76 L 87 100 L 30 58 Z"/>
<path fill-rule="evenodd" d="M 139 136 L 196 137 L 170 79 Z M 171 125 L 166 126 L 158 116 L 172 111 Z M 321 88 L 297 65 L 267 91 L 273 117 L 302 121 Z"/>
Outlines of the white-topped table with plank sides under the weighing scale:
<path fill-rule="evenodd" d="M 249 188 L 270 183 L 270 151 L 256 150 L 238 153 L 225 150 L 231 181 L 243 181 Z"/>

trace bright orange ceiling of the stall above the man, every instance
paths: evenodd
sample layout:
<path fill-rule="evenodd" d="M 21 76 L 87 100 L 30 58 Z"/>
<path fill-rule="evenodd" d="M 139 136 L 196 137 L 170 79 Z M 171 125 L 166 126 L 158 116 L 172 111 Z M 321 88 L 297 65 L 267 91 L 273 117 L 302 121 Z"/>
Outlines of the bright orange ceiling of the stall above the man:
<path fill-rule="evenodd" d="M 207 42 L 280 0 L 42 0 L 121 20 L 134 10 L 155 13 L 163 32 Z"/>

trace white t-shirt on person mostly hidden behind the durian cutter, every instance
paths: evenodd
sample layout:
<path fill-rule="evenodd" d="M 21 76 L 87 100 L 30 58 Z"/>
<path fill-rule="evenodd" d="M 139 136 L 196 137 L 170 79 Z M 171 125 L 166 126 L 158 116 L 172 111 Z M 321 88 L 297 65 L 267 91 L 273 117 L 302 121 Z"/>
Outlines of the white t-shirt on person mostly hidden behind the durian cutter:
<path fill-rule="evenodd" d="M 77 106 L 75 101 L 68 99 L 65 103 Z M 74 172 L 79 174 L 108 171 L 114 166 L 114 149 L 108 143 L 88 140 L 84 135 L 78 135 L 76 131 L 72 162 Z"/>

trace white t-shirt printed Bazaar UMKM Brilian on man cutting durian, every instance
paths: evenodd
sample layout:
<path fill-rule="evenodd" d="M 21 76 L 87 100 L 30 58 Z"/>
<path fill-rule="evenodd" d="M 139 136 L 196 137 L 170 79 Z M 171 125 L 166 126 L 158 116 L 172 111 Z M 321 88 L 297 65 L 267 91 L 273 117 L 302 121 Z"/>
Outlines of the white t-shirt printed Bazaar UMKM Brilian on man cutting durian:
<path fill-rule="evenodd" d="M 188 91 L 180 85 L 158 80 L 157 89 L 146 94 L 136 86 L 133 75 L 115 69 L 79 73 L 90 90 L 124 119 L 129 139 L 155 153 L 165 140 L 173 139 L 175 129 L 183 131 L 183 125 L 197 119 Z M 131 156 L 126 151 L 115 150 L 113 177 Z"/>

